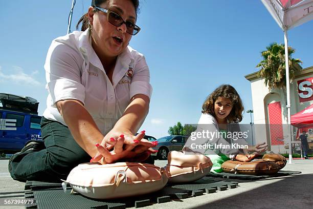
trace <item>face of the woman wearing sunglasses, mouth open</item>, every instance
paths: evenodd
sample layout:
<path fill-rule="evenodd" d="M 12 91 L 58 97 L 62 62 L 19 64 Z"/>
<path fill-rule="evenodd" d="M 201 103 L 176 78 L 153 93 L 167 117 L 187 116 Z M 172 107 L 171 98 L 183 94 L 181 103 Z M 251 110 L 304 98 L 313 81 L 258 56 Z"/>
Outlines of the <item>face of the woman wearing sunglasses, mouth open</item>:
<path fill-rule="evenodd" d="M 136 11 L 130 0 L 108 0 L 99 7 L 117 13 L 126 22 L 136 24 Z M 119 27 L 110 24 L 106 15 L 102 11 L 94 13 L 93 7 L 88 10 L 90 23 L 93 27 L 94 47 L 101 55 L 116 57 L 127 47 L 132 35 L 126 33 L 125 24 Z"/>

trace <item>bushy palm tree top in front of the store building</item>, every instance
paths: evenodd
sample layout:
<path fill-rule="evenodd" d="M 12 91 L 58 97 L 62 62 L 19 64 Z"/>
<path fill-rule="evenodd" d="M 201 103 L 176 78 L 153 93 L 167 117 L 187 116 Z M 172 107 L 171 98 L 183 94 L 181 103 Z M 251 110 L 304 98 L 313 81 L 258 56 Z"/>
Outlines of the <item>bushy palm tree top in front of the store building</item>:
<path fill-rule="evenodd" d="M 258 76 L 265 79 L 265 86 L 269 89 L 285 89 L 286 88 L 286 67 L 285 67 L 285 45 L 272 43 L 262 51 L 263 60 L 256 66 L 260 67 Z M 288 64 L 289 64 L 289 78 L 294 80 L 295 73 L 299 69 L 299 63 L 302 64 L 300 59 L 294 59 L 291 55 L 295 49 L 288 47 Z"/>

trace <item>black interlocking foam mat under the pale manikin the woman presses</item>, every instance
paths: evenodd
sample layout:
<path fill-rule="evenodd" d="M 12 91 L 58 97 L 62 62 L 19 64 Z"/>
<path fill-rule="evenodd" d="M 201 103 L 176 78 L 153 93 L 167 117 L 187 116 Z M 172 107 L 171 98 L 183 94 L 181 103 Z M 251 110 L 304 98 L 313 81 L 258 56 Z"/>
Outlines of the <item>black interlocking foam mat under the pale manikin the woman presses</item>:
<path fill-rule="evenodd" d="M 26 198 L 34 198 L 36 205 L 28 208 L 108 208 L 119 209 L 126 207 L 143 207 L 151 204 L 169 202 L 172 199 L 184 199 L 194 196 L 210 194 L 216 191 L 234 189 L 238 186 L 235 181 L 216 181 L 214 178 L 205 177 L 188 184 L 166 185 L 162 190 L 129 198 L 113 200 L 99 200 L 84 197 L 80 194 L 71 194 L 71 187 L 66 192 L 61 184 L 28 181 L 31 191 L 25 192 Z M 49 186 L 52 186 L 49 188 Z"/>

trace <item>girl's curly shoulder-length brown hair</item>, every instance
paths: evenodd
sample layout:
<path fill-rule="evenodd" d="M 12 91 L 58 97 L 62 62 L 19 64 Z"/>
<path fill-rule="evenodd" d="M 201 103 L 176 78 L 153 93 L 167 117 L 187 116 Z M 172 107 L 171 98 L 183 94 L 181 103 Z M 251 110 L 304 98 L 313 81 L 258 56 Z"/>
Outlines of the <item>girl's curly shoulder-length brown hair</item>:
<path fill-rule="evenodd" d="M 214 103 L 218 97 L 225 97 L 232 102 L 233 108 L 227 116 L 227 119 L 230 122 L 240 122 L 242 120 L 243 105 L 239 94 L 231 85 L 220 85 L 217 87 L 203 103 L 201 112 L 216 117 L 214 113 Z"/>

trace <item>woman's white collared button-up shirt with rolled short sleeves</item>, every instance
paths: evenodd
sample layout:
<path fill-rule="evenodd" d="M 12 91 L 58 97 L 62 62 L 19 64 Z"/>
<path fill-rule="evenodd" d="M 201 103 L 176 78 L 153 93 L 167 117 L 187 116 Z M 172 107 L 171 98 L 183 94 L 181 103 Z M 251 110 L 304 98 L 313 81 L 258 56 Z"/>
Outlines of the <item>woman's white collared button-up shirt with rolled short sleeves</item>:
<path fill-rule="evenodd" d="M 128 46 L 118 56 L 112 84 L 91 45 L 88 30 L 54 39 L 44 69 L 49 95 L 43 117 L 65 126 L 55 106 L 59 100 L 81 101 L 105 135 L 123 115 L 131 97 L 144 94 L 151 98 L 150 73 L 144 56 Z"/>

